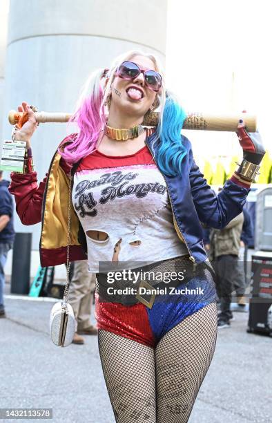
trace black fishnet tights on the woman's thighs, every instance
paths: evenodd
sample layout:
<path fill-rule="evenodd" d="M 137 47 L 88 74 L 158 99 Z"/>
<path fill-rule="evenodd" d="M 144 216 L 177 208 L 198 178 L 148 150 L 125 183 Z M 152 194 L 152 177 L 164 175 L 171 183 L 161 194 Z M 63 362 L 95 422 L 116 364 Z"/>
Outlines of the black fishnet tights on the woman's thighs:
<path fill-rule="evenodd" d="M 99 329 L 99 354 L 115 421 L 188 422 L 216 336 L 215 303 L 186 317 L 155 348 Z"/>

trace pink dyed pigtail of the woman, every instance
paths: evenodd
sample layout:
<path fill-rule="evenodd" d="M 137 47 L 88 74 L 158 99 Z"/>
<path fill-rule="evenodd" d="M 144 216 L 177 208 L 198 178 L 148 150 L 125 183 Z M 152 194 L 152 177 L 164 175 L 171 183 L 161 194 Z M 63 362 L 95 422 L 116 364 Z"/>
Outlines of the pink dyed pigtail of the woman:
<path fill-rule="evenodd" d="M 78 162 L 95 150 L 99 132 L 106 122 L 104 90 L 101 87 L 103 76 L 104 69 L 99 69 L 90 75 L 77 103 L 76 111 L 69 120 L 77 122 L 79 133 L 71 138 L 72 142 L 64 147 L 64 151 L 59 149 L 59 153 L 70 164 Z"/>

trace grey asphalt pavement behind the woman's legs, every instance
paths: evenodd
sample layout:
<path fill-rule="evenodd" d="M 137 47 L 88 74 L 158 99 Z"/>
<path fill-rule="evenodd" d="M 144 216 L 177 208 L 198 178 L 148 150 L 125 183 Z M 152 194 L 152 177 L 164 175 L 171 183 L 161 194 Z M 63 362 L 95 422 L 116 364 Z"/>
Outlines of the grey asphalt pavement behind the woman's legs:
<path fill-rule="evenodd" d="M 48 332 L 54 302 L 6 295 L 5 304 L 0 408 L 52 408 L 54 423 L 114 423 L 97 336 L 86 336 L 84 345 L 59 348 Z M 272 339 L 246 332 L 248 313 L 234 316 L 231 328 L 218 332 L 189 423 L 272 422 Z"/>

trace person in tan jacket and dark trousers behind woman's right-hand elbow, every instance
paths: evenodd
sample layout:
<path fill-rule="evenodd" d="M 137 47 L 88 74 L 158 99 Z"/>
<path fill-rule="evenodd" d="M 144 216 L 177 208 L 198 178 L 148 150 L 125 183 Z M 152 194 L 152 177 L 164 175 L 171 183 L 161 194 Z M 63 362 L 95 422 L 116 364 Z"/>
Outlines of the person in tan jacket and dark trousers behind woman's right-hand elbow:
<path fill-rule="evenodd" d="M 210 244 L 207 250 L 217 274 L 216 290 L 220 299 L 218 328 L 228 328 L 230 320 L 233 319 L 231 293 L 233 276 L 237 272 L 243 223 L 244 215 L 240 213 L 224 229 L 211 229 L 210 232 Z"/>

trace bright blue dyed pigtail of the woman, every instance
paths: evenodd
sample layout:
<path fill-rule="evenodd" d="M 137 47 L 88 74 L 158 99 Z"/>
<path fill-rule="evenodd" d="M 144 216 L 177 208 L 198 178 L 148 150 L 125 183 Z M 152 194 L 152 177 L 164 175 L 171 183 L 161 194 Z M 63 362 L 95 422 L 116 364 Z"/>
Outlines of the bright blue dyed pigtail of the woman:
<path fill-rule="evenodd" d="M 182 173 L 182 159 L 186 156 L 186 148 L 182 144 L 182 126 L 186 113 L 181 106 L 168 94 L 164 106 L 162 127 L 160 128 L 159 147 L 157 149 L 157 164 L 168 176 Z"/>

